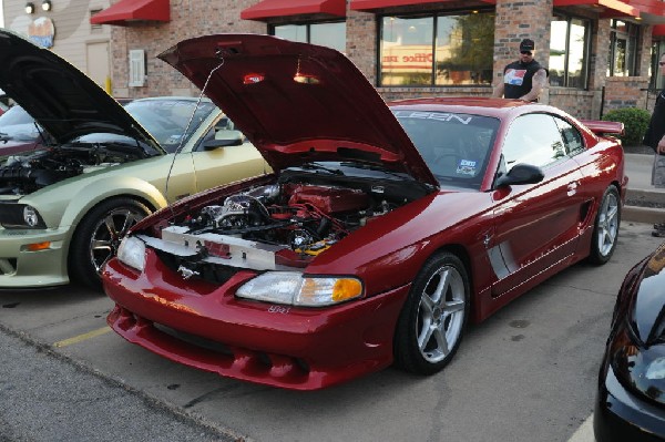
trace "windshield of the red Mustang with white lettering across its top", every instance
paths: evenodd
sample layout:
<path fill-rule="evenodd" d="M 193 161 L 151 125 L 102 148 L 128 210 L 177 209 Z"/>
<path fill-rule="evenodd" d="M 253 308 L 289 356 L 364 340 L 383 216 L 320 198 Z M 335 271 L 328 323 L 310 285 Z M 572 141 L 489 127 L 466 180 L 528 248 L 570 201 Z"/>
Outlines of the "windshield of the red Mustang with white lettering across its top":
<path fill-rule="evenodd" d="M 480 188 L 499 120 L 447 112 L 392 112 L 441 185 Z"/>

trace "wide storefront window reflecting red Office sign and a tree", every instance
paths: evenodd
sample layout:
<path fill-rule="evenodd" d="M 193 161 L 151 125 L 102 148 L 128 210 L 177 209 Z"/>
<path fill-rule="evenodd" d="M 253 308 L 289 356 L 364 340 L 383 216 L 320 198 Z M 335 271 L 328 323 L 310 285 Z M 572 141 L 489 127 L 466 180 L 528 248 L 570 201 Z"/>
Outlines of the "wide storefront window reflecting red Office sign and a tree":
<path fill-rule="evenodd" d="M 493 49 L 493 13 L 383 17 L 379 85 L 489 85 Z"/>

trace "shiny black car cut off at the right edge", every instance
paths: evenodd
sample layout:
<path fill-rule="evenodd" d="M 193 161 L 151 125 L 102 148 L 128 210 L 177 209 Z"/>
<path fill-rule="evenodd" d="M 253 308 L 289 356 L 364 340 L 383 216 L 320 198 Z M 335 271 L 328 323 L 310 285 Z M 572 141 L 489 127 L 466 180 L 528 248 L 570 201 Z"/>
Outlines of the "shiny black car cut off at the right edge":
<path fill-rule="evenodd" d="M 665 441 L 665 244 L 626 275 L 598 377 L 598 442 Z"/>

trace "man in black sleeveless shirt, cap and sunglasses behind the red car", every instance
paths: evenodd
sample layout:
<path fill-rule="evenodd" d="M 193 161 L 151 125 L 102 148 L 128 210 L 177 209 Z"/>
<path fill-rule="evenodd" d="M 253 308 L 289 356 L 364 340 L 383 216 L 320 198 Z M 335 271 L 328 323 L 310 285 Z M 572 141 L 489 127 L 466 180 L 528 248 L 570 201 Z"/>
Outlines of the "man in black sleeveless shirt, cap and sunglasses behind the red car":
<path fill-rule="evenodd" d="M 494 88 L 492 96 L 538 101 L 548 83 L 548 70 L 533 60 L 535 44 L 524 39 L 520 43 L 520 60 L 503 69 L 503 81 Z"/>

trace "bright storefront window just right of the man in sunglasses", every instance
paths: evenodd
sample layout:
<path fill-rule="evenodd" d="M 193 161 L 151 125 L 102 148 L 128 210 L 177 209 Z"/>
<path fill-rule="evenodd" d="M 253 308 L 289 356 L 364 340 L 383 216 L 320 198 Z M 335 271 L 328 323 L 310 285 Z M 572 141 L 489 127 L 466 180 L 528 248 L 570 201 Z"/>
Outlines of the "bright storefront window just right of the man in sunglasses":
<path fill-rule="evenodd" d="M 585 89 L 589 21 L 556 16 L 550 32 L 550 85 Z"/>

